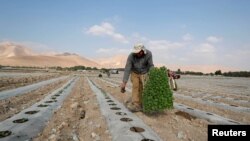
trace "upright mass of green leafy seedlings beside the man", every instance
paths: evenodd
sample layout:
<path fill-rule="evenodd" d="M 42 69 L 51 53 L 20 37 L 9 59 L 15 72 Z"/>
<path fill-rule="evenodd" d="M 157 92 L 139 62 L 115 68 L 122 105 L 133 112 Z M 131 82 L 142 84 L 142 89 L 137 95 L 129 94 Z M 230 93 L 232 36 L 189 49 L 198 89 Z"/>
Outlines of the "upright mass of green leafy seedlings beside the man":
<path fill-rule="evenodd" d="M 143 90 L 143 112 L 155 113 L 173 108 L 173 92 L 168 83 L 167 69 L 151 68 Z"/>

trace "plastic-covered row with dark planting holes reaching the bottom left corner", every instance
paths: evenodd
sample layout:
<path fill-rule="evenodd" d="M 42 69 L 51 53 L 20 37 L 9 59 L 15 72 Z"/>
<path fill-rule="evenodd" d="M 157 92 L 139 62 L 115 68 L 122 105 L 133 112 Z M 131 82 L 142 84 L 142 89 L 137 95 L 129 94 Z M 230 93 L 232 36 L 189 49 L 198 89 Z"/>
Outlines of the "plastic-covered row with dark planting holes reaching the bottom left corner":
<path fill-rule="evenodd" d="M 40 102 L 0 122 L 0 140 L 32 140 L 44 128 L 46 122 L 70 94 L 77 78 L 72 78 L 61 88 L 46 96 Z"/>

